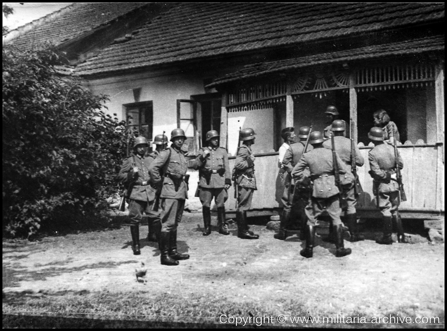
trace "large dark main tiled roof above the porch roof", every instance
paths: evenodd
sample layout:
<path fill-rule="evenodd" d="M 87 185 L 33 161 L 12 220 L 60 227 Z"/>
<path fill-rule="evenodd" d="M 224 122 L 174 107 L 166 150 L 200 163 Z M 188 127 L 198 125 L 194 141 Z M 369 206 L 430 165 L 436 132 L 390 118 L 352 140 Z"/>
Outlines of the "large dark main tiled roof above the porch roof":
<path fill-rule="evenodd" d="M 444 3 L 181 3 L 76 71 L 137 69 L 443 20 Z"/>

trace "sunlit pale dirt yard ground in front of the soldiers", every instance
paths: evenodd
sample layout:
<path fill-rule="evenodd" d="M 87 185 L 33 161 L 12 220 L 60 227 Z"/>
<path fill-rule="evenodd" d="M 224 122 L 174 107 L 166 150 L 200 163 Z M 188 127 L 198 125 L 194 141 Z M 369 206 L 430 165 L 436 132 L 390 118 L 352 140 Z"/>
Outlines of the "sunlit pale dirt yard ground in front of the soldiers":
<path fill-rule="evenodd" d="M 212 224 L 216 222 L 213 216 Z M 254 218 L 249 222 L 262 223 Z M 374 240 L 380 235 L 379 229 L 367 229 L 367 240 L 345 241 L 345 247 L 353 251 L 351 255 L 336 258 L 335 246 L 319 236 L 327 233 L 327 228 L 321 227 L 317 229 L 314 257 L 305 259 L 299 255 L 304 244 L 298 232 L 286 241 L 276 240 L 275 232 L 264 223 L 251 225 L 260 239 L 242 240 L 236 236 L 234 223 L 227 236 L 218 234 L 214 226 L 212 234 L 204 237 L 202 226 L 201 214 L 185 212 L 178 244 L 179 251 L 191 258 L 175 267 L 160 265 L 157 245 L 144 239 L 146 225 L 140 229 L 140 256 L 132 254 L 130 231 L 125 226 L 33 242 L 3 240 L 3 314 L 11 313 L 13 303 L 7 298 L 17 293 L 38 296 L 86 290 L 110 295 L 145 293 L 148 298 L 162 293 L 188 298 L 199 293 L 235 304 L 264 306 L 274 319 L 280 315 L 299 317 L 290 310 L 294 302 L 304 307 L 307 316 L 330 316 L 334 321 L 336 316 L 365 317 L 370 328 L 377 327 L 371 324 L 372 318 L 390 314 L 409 316 L 413 322 L 381 327 L 444 327 L 444 244 L 433 245 L 419 234 L 410 234 L 412 244 L 378 245 Z M 148 272 L 144 280 L 137 281 L 135 268 L 141 262 Z M 14 309 L 12 313 L 27 313 L 20 307 Z M 66 314 L 76 317 L 77 312 Z M 228 316 L 222 320 L 213 312 L 209 317 L 217 324 L 232 322 Z M 416 326 L 417 317 L 440 319 Z M 269 324 L 267 320 L 264 326 Z"/>

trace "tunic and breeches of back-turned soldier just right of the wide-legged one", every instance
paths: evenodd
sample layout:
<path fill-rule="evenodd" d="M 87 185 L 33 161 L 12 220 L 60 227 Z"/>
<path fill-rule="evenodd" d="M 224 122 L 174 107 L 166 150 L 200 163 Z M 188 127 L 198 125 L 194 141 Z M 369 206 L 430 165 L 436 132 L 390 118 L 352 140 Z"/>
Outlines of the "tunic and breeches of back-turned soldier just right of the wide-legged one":
<path fill-rule="evenodd" d="M 329 150 L 332 150 L 332 142 L 330 140 L 325 141 L 323 146 Z M 355 197 L 355 178 L 351 169 L 351 139 L 342 136 L 334 137 L 335 151 L 340 159 L 346 165 L 346 173 L 340 175 L 340 181 L 343 184 L 344 195 L 347 203 L 346 214 L 355 214 L 357 199 Z M 356 165 L 362 166 L 365 164 L 365 160 L 360 154 L 359 148 L 356 146 Z"/>

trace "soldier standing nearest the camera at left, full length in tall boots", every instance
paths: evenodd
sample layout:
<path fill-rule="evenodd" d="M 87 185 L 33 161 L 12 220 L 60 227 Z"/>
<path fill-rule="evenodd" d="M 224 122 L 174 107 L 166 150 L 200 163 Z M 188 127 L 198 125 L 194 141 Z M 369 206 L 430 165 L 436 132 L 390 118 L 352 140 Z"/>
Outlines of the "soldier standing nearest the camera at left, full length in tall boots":
<path fill-rule="evenodd" d="M 171 146 L 160 152 L 149 170 L 153 182 L 162 185 L 159 249 L 160 262 L 166 266 L 177 266 L 179 260 L 189 259 L 188 254 L 177 251 L 177 226 L 188 198 L 189 176 L 186 175 L 185 152 L 181 150 L 185 140 L 182 129 L 172 130 Z"/>

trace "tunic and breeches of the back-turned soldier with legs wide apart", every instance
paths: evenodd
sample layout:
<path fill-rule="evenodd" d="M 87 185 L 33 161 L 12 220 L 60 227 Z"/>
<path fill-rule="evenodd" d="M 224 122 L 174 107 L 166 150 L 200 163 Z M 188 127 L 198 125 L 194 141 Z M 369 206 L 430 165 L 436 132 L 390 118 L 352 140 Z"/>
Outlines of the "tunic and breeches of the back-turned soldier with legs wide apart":
<path fill-rule="evenodd" d="M 338 171 L 341 174 L 346 173 L 345 166 L 338 155 L 336 159 Z M 292 170 L 292 177 L 299 179 L 306 167 L 309 168 L 313 180 L 312 196 L 305 208 L 307 225 L 315 225 L 317 218 L 324 210 L 329 214 L 333 225 L 341 225 L 339 190 L 335 185 L 332 151 L 321 147 L 304 153 Z"/>

